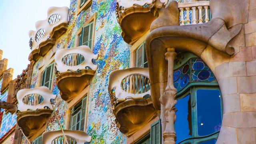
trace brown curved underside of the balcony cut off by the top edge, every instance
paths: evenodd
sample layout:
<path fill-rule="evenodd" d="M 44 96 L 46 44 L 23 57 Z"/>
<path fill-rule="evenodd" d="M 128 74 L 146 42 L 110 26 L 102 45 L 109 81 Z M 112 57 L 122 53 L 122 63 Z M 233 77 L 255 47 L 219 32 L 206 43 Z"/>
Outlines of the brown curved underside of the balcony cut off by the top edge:
<path fill-rule="evenodd" d="M 132 7 L 125 10 L 118 19 L 124 41 L 128 44 L 134 44 L 149 30 L 151 23 L 156 18 L 151 12 L 151 6 Z"/>

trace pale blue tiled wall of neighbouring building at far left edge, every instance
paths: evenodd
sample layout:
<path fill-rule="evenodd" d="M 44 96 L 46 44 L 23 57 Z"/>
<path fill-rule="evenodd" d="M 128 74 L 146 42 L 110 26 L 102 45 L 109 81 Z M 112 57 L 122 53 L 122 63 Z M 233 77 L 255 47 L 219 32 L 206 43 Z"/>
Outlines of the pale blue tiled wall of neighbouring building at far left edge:
<path fill-rule="evenodd" d="M 0 87 L 2 85 L 2 78 L 0 79 Z M 3 94 L 0 94 L 0 100 L 6 102 L 8 95 L 8 90 L 6 90 Z M 16 114 L 6 114 L 4 109 L 0 110 L 0 114 L 2 115 L 2 120 L 0 120 L 0 140 L 8 134 L 12 128 L 16 124 Z"/>

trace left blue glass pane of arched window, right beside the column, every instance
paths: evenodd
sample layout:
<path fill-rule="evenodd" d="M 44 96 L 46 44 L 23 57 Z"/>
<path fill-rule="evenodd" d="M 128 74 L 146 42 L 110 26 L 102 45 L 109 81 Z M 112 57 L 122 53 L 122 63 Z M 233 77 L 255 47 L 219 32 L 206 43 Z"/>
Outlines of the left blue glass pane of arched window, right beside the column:
<path fill-rule="evenodd" d="M 178 100 L 176 104 L 175 131 L 177 136 L 176 144 L 192 136 L 191 121 L 191 100 L 190 94 Z"/>

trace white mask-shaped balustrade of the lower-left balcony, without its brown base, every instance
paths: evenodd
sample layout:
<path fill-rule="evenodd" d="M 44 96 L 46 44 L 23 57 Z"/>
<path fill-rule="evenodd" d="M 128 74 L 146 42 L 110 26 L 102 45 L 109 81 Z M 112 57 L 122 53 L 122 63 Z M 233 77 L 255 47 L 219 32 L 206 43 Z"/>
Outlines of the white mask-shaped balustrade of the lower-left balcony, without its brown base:
<path fill-rule="evenodd" d="M 51 99 L 55 99 L 56 95 L 46 86 L 33 89 L 22 89 L 17 93 L 18 113 L 27 111 L 36 111 L 43 109 L 51 109 Z"/>

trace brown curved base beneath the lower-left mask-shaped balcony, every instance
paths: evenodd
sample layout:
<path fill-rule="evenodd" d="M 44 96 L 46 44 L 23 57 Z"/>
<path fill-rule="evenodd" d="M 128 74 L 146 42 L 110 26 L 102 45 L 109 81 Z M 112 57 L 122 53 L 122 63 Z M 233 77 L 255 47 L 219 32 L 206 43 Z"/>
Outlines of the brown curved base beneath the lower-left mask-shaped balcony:
<path fill-rule="evenodd" d="M 46 122 L 53 110 L 44 109 L 31 112 L 22 112 L 17 116 L 17 124 L 30 141 L 40 136 L 45 131 Z"/>

